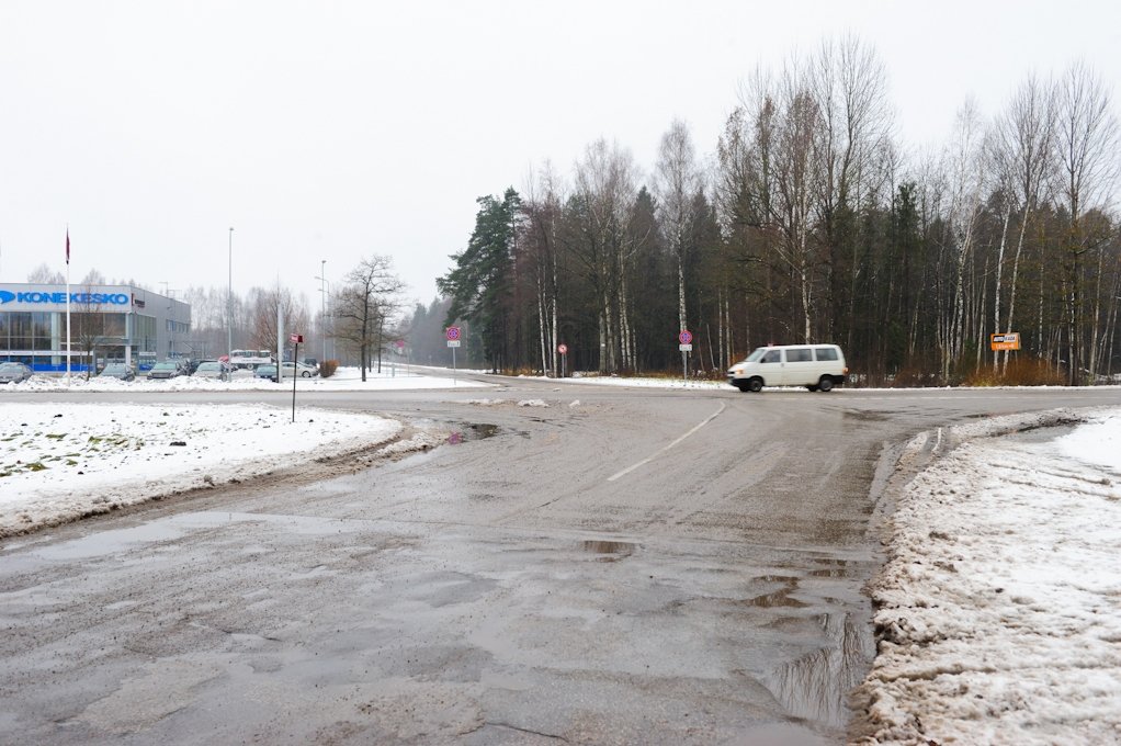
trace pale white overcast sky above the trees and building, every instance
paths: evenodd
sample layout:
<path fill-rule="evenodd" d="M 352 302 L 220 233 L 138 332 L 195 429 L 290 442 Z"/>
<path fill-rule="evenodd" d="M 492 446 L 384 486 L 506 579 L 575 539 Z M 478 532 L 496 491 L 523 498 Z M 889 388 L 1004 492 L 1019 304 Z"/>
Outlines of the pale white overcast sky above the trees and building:
<path fill-rule="evenodd" d="M 0 282 L 47 261 L 152 289 L 326 277 L 393 257 L 430 301 L 483 194 L 564 176 L 597 138 L 649 169 L 675 118 L 701 154 L 757 66 L 855 34 L 897 128 L 941 145 L 1032 71 L 1088 63 L 1119 95 L 1121 3 L 0 3 Z M 1117 108 L 1117 107 L 1115 107 Z"/>

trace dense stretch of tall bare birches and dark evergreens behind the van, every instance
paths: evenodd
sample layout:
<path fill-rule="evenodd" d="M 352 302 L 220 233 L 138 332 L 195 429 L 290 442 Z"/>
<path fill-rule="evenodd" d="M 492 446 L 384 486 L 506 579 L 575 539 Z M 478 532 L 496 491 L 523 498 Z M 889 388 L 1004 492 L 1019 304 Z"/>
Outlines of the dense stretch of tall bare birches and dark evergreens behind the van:
<path fill-rule="evenodd" d="M 990 120 L 966 102 L 907 156 L 874 50 L 826 40 L 756 71 L 707 158 L 675 121 L 649 172 L 601 139 L 567 177 L 480 197 L 443 322 L 495 370 L 557 375 L 559 343 L 569 370 L 679 369 L 687 329 L 714 375 L 815 341 L 869 384 L 1093 383 L 1121 363 L 1119 145 L 1109 88 L 1075 64 Z M 1007 332 L 1021 349 L 993 352 Z"/>

